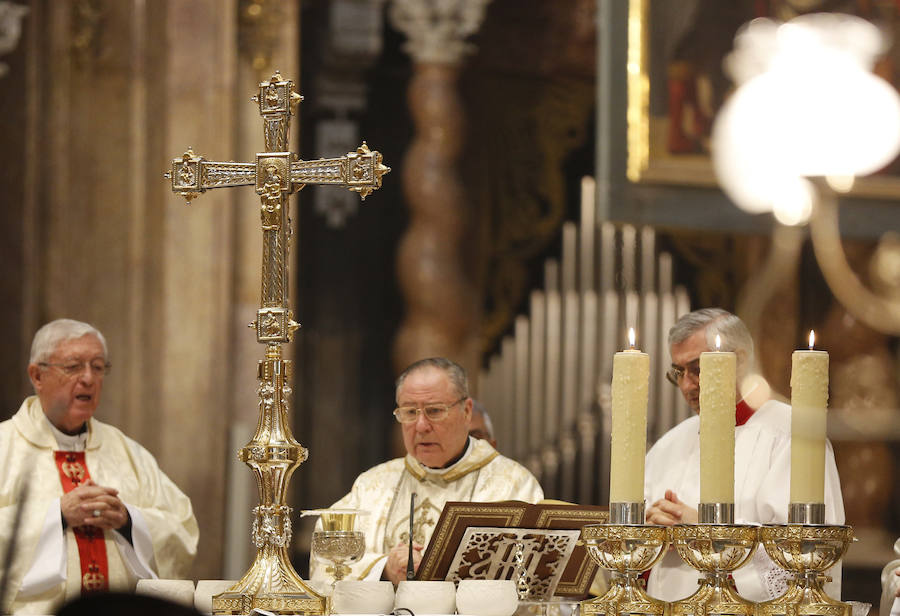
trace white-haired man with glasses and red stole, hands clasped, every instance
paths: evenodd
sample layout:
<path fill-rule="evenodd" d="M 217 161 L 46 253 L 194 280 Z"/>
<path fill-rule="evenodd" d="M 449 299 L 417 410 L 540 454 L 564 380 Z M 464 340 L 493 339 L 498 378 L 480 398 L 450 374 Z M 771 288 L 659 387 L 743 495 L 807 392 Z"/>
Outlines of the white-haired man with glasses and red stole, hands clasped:
<path fill-rule="evenodd" d="M 2 613 L 49 614 L 83 593 L 188 573 L 191 502 L 146 449 L 93 418 L 109 372 L 106 340 L 58 319 L 34 336 L 35 396 L 0 423 Z M 10 561 L 6 561 L 10 562 Z"/>

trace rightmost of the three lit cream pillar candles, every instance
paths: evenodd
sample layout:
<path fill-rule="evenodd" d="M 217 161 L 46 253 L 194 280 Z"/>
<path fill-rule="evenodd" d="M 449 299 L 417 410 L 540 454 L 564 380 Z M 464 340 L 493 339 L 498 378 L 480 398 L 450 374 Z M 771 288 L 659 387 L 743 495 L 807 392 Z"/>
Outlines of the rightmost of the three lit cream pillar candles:
<path fill-rule="evenodd" d="M 825 430 L 828 407 L 828 353 L 812 350 L 791 356 L 791 502 L 825 502 Z"/>

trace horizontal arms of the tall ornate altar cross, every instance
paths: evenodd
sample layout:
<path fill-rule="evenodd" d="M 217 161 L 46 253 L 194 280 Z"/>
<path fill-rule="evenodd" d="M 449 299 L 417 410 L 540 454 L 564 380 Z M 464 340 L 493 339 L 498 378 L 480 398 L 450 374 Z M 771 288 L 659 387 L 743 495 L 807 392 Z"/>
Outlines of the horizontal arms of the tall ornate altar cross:
<path fill-rule="evenodd" d="M 279 158 L 284 156 L 276 154 Z M 257 177 L 262 177 L 258 175 L 261 163 L 272 155 L 272 152 L 258 154 L 255 163 L 215 162 L 188 148 L 181 158 L 172 159 L 172 170 L 165 177 L 172 181 L 172 192 L 190 203 L 211 188 L 256 185 Z M 292 154 L 288 156 L 293 157 Z M 345 156 L 291 162 L 288 192 L 300 190 L 307 184 L 332 184 L 346 186 L 365 200 L 381 188 L 381 178 L 390 170 L 382 164 L 381 153 L 370 150 L 364 141 Z"/>

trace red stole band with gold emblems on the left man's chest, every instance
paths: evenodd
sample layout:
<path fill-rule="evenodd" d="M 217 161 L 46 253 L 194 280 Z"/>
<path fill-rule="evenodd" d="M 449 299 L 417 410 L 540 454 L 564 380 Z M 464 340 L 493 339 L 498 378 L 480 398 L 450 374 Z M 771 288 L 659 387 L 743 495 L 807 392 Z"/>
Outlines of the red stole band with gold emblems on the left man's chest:
<path fill-rule="evenodd" d="M 69 493 L 91 478 L 83 451 L 54 451 L 63 492 Z M 81 560 L 82 594 L 109 590 L 109 563 L 103 530 L 96 526 L 76 526 L 75 543 Z"/>

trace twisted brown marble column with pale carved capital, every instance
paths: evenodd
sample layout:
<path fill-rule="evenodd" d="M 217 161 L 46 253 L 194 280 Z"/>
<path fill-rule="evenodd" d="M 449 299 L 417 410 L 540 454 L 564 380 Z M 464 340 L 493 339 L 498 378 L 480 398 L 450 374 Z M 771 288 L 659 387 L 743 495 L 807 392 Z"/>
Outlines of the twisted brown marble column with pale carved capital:
<path fill-rule="evenodd" d="M 403 164 L 409 226 L 400 241 L 397 276 L 405 316 L 394 341 L 399 372 L 417 359 L 451 357 L 477 367 L 474 286 L 463 261 L 466 200 L 456 162 L 464 115 L 457 76 L 465 42 L 487 0 L 394 0 L 391 19 L 414 59 L 409 107 L 415 136 Z"/>

